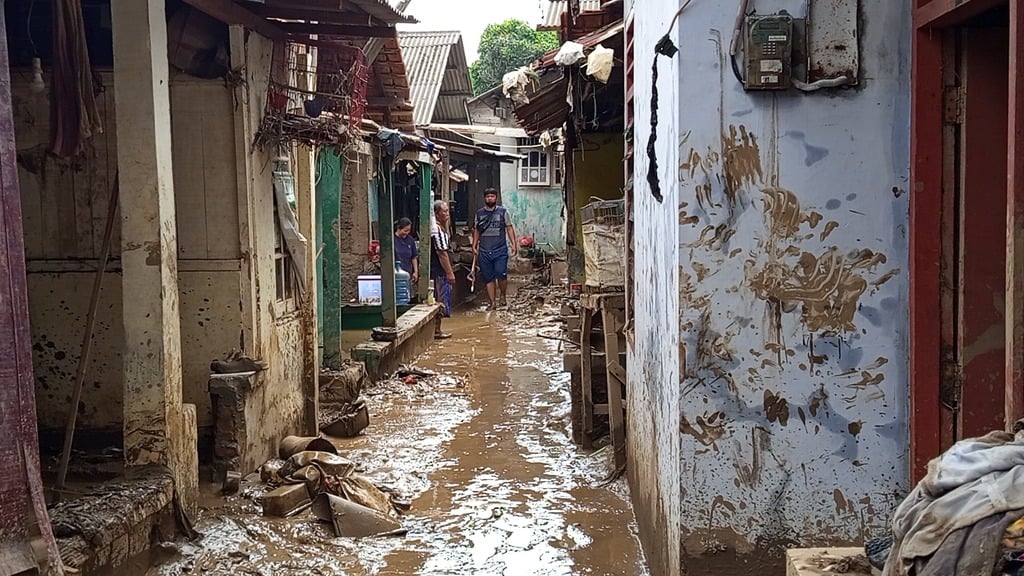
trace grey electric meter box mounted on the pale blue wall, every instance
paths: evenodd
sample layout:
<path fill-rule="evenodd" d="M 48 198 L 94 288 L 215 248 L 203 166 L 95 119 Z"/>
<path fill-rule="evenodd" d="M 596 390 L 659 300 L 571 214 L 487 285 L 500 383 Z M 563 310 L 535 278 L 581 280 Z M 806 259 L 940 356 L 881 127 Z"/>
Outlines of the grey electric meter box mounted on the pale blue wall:
<path fill-rule="evenodd" d="M 746 16 L 743 72 L 748 90 L 785 90 L 793 82 L 793 17 Z"/>

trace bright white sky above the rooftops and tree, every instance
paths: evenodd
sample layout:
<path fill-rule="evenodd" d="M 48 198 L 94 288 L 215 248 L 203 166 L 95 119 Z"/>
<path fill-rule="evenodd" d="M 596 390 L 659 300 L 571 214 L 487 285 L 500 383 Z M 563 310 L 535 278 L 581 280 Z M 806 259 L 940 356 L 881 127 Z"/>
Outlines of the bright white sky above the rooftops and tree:
<path fill-rule="evenodd" d="M 541 22 L 541 3 L 549 0 L 413 0 L 407 14 L 420 20 L 416 25 L 399 25 L 398 30 L 462 32 L 466 57 L 476 60 L 480 35 L 488 24 L 517 18 L 536 27 Z M 391 0 L 394 4 L 395 0 Z"/>

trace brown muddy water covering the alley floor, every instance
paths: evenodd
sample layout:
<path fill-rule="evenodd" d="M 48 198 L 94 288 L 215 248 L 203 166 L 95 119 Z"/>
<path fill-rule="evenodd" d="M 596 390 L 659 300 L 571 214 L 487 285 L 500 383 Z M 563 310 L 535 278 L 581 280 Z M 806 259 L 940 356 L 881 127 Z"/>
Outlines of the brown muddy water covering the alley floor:
<path fill-rule="evenodd" d="M 337 441 L 364 474 L 409 495 L 407 536 L 333 538 L 306 515 L 259 516 L 248 500 L 211 498 L 196 543 L 151 574 L 645 574 L 622 481 L 599 487 L 607 451 L 568 438 L 567 378 L 537 327 L 466 313 L 418 366 L 458 375 L 430 386 L 370 390 L 366 436 Z"/>

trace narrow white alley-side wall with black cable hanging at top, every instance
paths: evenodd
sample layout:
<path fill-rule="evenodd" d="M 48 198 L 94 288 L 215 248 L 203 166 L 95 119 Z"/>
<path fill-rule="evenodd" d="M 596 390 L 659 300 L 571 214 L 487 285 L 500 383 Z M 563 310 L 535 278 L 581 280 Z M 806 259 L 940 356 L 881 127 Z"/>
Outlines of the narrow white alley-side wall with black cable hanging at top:
<path fill-rule="evenodd" d="M 636 13 L 635 57 L 637 71 L 649 71 L 657 39 L 668 29 L 675 12 L 675 0 L 643 0 Z M 677 76 L 677 61 L 662 59 L 662 86 L 671 86 Z M 650 82 L 638 79 L 636 101 L 650 101 Z M 678 204 L 676 175 L 678 119 L 675 90 L 659 93 L 660 124 L 657 153 L 658 177 L 664 182 L 665 202 L 658 203 L 646 188 L 645 155 L 637 147 L 637 188 L 634 192 L 636 243 L 634 330 L 627 334 L 629 382 L 627 393 L 627 458 L 634 509 L 640 538 L 653 576 L 680 574 L 680 437 L 679 385 L 679 228 L 675 206 Z M 650 109 L 636 107 L 636 139 L 645 142 L 650 133 Z M 617 142 L 617 143 L 616 143 Z M 589 197 L 602 192 L 614 194 L 610 181 L 622 181 L 622 136 L 604 138 L 600 155 L 589 152 L 589 138 L 577 155 L 577 174 L 581 188 L 575 203 L 583 206 Z M 617 156 L 612 152 L 618 151 Z M 607 152 L 604 152 L 607 150 Z M 583 164 L 583 163 L 586 164 Z M 591 167 L 593 166 L 593 170 Z M 618 174 L 613 174 L 614 169 Z M 599 171 L 600 170 L 600 171 Z M 614 191 L 617 192 L 617 191 Z M 582 244 L 581 244 L 582 248 Z"/>

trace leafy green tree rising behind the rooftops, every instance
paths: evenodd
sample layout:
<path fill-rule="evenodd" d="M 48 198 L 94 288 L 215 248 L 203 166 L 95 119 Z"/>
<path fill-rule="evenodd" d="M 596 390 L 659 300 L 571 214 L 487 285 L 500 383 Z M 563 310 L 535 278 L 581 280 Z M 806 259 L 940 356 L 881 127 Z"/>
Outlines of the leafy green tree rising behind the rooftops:
<path fill-rule="evenodd" d="M 469 68 L 473 92 L 481 94 L 502 83 L 502 77 L 558 47 L 554 32 L 538 32 L 526 23 L 507 19 L 493 24 L 480 36 L 479 59 Z"/>

